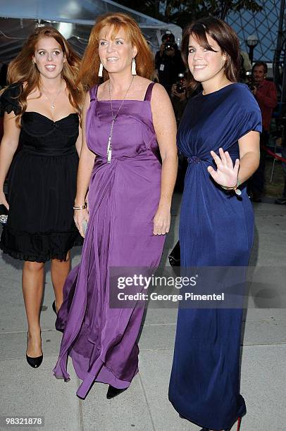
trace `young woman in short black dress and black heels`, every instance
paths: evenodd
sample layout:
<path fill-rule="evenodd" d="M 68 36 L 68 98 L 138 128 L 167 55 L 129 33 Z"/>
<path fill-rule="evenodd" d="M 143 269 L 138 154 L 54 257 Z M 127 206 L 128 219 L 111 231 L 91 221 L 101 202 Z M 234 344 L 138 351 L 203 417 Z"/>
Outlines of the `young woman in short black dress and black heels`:
<path fill-rule="evenodd" d="M 57 311 L 70 270 L 69 250 L 82 243 L 73 221 L 83 95 L 75 88 L 79 65 L 80 58 L 54 27 L 38 27 L 10 63 L 10 85 L 0 96 L 5 112 L 0 204 L 8 209 L 0 247 L 24 261 L 26 357 L 33 368 L 43 358 L 39 314 L 44 263 L 51 260 Z M 6 200 L 3 186 L 10 166 Z"/>

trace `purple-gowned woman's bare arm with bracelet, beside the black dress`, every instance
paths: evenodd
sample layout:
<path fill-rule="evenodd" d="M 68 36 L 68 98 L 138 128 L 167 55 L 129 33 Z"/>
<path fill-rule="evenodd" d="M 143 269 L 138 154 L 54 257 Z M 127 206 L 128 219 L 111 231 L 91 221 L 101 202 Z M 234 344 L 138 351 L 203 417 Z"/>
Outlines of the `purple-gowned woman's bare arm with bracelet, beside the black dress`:
<path fill-rule="evenodd" d="M 87 141 L 85 135 L 85 118 L 87 115 L 87 109 L 89 108 L 90 99 L 89 93 L 85 96 L 85 106 L 82 112 L 82 145 L 80 149 L 80 161 L 77 170 L 77 194 L 75 196 L 75 206 L 83 206 L 85 204 L 85 196 L 89 186 L 90 177 L 92 175 L 92 168 L 94 165 L 95 155 L 87 148 Z M 80 231 L 80 235 L 85 237 L 82 231 L 83 220 L 89 220 L 88 211 L 75 210 L 75 225 Z"/>

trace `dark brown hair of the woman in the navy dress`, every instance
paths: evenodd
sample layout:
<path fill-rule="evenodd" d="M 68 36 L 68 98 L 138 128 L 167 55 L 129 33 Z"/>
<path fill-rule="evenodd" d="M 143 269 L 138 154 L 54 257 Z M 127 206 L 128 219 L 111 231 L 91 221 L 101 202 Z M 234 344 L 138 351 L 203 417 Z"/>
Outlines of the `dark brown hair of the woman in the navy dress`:
<path fill-rule="evenodd" d="M 182 35 L 182 59 L 188 67 L 189 36 L 194 36 L 201 46 L 213 51 L 209 46 L 206 35 L 209 35 L 220 46 L 221 51 L 226 54 L 225 76 L 232 82 L 237 82 L 240 74 L 240 41 L 232 27 L 218 18 L 201 18 L 185 27 Z M 189 87 L 195 89 L 199 82 L 189 73 Z"/>

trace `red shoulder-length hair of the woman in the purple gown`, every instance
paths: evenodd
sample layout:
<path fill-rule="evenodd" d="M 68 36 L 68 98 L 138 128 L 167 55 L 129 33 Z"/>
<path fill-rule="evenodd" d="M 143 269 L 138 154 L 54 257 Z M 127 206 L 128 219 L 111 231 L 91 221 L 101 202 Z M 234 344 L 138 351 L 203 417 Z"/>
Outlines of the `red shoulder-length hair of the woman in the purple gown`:
<path fill-rule="evenodd" d="M 82 82 L 85 89 L 92 88 L 99 82 L 99 33 L 104 27 L 113 27 L 113 37 L 116 37 L 120 28 L 125 30 L 132 46 L 137 48 L 137 75 L 151 79 L 154 73 L 154 56 L 142 35 L 139 25 L 126 13 L 106 13 L 106 15 L 99 16 L 94 27 L 92 27 L 87 49 L 82 58 L 78 80 Z M 108 73 L 105 69 L 103 79 L 104 81 L 108 79 Z"/>

